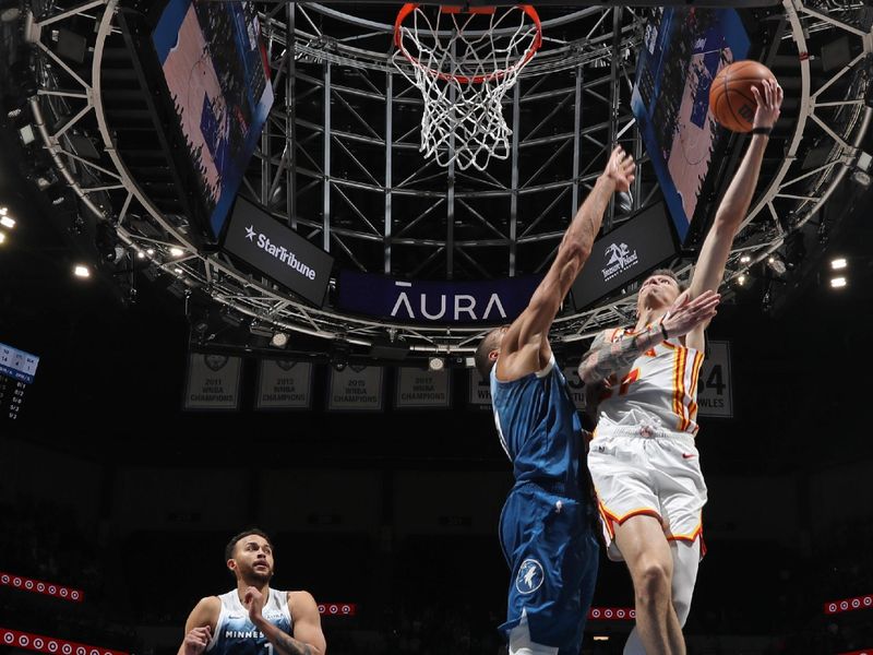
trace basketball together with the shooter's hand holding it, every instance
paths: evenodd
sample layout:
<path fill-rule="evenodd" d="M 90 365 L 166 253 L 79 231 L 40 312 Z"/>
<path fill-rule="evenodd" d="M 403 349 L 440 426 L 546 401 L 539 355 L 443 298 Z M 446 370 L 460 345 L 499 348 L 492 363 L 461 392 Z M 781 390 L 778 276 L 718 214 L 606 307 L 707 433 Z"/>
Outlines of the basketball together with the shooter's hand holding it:
<path fill-rule="evenodd" d="M 782 90 L 776 78 L 757 61 L 736 61 L 726 66 L 709 87 L 713 116 L 719 124 L 733 132 L 772 128 L 779 117 L 781 103 Z"/>

